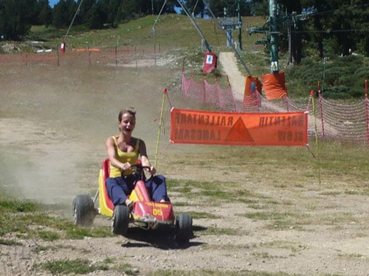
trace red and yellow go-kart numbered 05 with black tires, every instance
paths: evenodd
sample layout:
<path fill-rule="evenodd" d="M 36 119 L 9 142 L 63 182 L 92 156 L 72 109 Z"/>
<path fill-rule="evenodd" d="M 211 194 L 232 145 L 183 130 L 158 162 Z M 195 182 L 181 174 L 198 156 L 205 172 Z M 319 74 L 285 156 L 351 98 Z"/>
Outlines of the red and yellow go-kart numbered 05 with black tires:
<path fill-rule="evenodd" d="M 109 177 L 109 160 L 102 162 L 102 168 L 98 174 L 98 191 L 92 199 L 89 195 L 77 195 L 73 201 L 73 219 L 75 225 L 91 226 L 96 214 L 112 217 L 112 232 L 119 235 L 126 235 L 129 224 L 133 224 L 143 229 L 156 229 L 159 225 L 175 227 L 175 239 L 179 242 L 188 242 L 193 235 L 192 218 L 189 214 L 179 214 L 174 217 L 171 202 L 151 201 L 145 185 L 144 169 L 148 168 L 140 163 L 131 165 L 135 169 L 136 179 L 138 179 L 128 196 L 134 202 L 130 211 L 125 205 L 114 207 L 106 190 L 106 179 Z M 97 200 L 99 207 L 95 208 Z"/>

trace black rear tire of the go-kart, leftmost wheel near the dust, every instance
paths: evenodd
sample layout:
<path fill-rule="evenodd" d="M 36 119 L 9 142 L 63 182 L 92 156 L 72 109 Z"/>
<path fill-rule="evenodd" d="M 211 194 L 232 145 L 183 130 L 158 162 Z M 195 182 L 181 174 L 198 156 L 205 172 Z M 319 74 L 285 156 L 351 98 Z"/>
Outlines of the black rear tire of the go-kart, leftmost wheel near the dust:
<path fill-rule="evenodd" d="M 94 202 L 89 195 L 77 195 L 73 200 L 74 225 L 92 226 L 95 218 Z"/>

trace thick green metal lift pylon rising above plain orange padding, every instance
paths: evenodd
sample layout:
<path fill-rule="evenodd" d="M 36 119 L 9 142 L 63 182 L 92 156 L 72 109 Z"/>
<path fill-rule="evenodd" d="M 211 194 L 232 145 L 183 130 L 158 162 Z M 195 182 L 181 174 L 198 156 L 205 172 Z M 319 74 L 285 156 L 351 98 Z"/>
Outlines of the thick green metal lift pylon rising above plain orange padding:
<path fill-rule="evenodd" d="M 278 25 L 277 0 L 269 0 L 269 22 L 271 34 L 271 72 L 278 72 Z"/>

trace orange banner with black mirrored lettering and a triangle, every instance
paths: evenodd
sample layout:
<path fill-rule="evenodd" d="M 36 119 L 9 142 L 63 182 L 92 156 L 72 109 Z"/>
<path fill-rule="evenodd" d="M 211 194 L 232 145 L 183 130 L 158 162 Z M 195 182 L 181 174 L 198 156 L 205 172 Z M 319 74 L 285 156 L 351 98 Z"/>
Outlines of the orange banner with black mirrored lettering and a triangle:
<path fill-rule="evenodd" d="M 171 142 L 304 146 L 308 144 L 307 113 L 231 113 L 173 108 Z"/>

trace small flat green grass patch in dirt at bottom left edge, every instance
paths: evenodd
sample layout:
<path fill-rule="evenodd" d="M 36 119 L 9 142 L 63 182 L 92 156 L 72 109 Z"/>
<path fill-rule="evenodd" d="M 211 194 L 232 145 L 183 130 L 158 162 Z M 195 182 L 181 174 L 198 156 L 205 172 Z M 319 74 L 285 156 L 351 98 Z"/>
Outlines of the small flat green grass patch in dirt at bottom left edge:
<path fill-rule="evenodd" d="M 109 267 L 106 264 L 92 264 L 89 260 L 58 260 L 49 261 L 43 264 L 35 265 L 34 268 L 39 268 L 49 271 L 52 275 L 55 274 L 88 274 L 97 270 L 107 271 Z"/>

